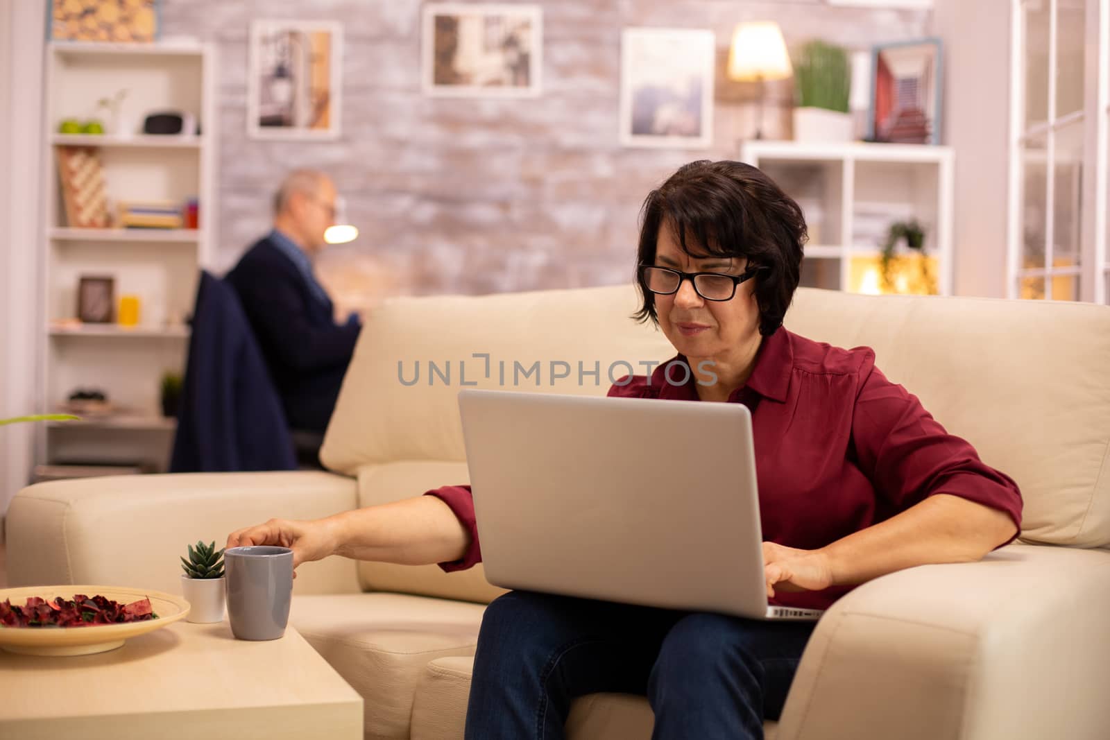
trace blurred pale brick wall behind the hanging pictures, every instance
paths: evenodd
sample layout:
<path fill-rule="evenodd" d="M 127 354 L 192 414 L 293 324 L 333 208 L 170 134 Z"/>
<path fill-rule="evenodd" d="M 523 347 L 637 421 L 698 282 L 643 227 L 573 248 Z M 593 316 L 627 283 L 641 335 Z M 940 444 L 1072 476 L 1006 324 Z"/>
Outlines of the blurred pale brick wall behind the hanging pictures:
<path fill-rule="evenodd" d="M 538 100 L 437 99 L 420 89 L 415 0 L 163 0 L 163 36 L 219 49 L 220 234 L 230 267 L 269 227 L 282 174 L 317 166 L 335 179 L 361 236 L 320 260 L 345 307 L 392 294 L 487 293 L 630 278 L 639 204 L 694 159 L 734 158 L 753 132 L 755 87 L 724 79 L 735 23 L 773 19 L 789 45 L 820 37 L 850 49 L 928 34 L 925 11 L 831 7 L 824 0 L 559 0 L 544 12 Z M 246 138 L 249 24 L 254 18 L 339 20 L 343 135 L 335 142 Z M 617 142 L 619 39 L 626 27 L 702 28 L 717 37 L 714 131 L 707 150 Z M 789 84 L 768 95 L 769 138 L 786 133 Z"/>

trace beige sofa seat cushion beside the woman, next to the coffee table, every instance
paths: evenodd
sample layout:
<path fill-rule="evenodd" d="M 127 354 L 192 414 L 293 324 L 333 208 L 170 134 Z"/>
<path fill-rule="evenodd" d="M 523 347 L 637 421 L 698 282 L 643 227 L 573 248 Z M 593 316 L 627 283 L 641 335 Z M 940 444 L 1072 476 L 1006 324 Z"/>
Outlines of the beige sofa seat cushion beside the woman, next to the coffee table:
<path fill-rule="evenodd" d="M 299 596 L 290 624 L 362 695 L 365 737 L 379 740 L 410 736 L 413 695 L 427 663 L 473 656 L 484 610 L 405 594 Z"/>

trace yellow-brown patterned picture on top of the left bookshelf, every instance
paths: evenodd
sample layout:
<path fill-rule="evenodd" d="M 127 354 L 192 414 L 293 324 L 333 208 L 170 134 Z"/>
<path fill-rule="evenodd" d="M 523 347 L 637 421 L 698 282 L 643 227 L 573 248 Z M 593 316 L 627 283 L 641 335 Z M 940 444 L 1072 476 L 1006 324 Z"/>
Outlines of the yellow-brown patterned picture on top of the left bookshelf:
<path fill-rule="evenodd" d="M 150 43 L 159 38 L 161 0 L 74 2 L 49 0 L 48 41 Z"/>

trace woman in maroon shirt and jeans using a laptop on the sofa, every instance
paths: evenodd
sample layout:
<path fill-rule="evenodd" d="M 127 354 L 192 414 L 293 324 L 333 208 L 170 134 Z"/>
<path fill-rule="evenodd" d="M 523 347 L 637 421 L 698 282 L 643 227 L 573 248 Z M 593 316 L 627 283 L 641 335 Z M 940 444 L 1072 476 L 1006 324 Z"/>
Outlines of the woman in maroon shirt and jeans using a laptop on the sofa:
<path fill-rule="evenodd" d="M 636 274 L 638 317 L 663 330 L 689 382 L 673 385 L 660 365 L 609 395 L 748 406 L 767 594 L 826 608 L 885 574 L 978 560 L 1017 536 L 1021 497 L 888 381 L 874 352 L 783 327 L 805 240 L 801 210 L 759 170 L 679 169 L 644 204 Z M 655 429 L 653 440 L 666 454 L 668 435 L 697 433 Z M 465 486 L 228 539 L 246 544 L 292 547 L 295 564 L 481 560 Z M 761 738 L 813 628 L 512 591 L 482 621 L 466 737 L 559 738 L 575 697 L 619 691 L 647 696 L 655 738 Z"/>

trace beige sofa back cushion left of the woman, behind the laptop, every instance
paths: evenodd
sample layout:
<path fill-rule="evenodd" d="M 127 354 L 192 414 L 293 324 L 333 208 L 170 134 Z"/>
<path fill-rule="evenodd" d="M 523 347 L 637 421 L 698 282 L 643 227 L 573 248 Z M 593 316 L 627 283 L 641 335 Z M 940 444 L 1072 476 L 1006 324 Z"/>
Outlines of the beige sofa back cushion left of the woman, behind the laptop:
<path fill-rule="evenodd" d="M 458 391 L 605 395 L 610 374 L 674 355 L 654 326 L 629 318 L 638 307 L 632 285 L 386 302 L 363 324 L 321 459 L 359 477 L 362 506 L 467 483 Z M 369 590 L 477 601 L 498 592 L 480 569 L 361 562 L 359 575 Z"/>

